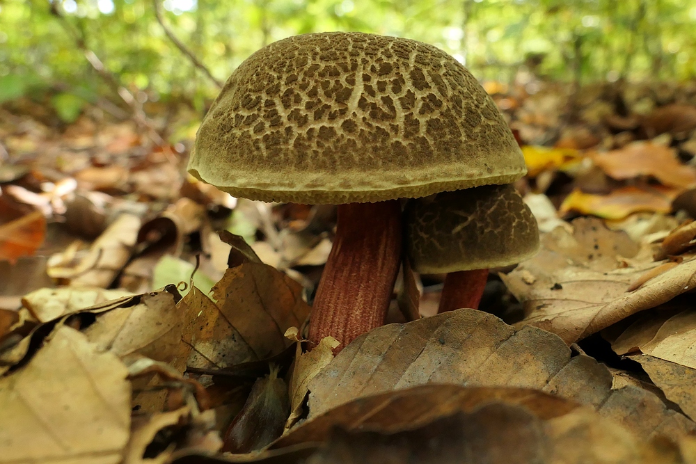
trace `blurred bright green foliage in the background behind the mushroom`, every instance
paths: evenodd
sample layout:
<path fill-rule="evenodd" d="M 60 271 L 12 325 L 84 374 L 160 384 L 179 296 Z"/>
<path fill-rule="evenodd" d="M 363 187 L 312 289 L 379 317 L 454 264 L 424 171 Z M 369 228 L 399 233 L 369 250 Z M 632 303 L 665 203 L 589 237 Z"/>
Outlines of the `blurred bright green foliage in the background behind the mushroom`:
<path fill-rule="evenodd" d="M 512 79 L 519 65 L 567 81 L 696 74 L 693 0 L 164 0 L 161 6 L 177 38 L 222 81 L 263 45 L 313 31 L 429 42 L 466 61 L 480 79 Z M 70 120 L 85 102 L 113 97 L 113 85 L 106 86 L 79 42 L 142 98 L 185 99 L 202 109 L 217 92 L 167 38 L 151 0 L 0 0 L 0 103 L 52 88 L 59 93 L 52 104 Z"/>

